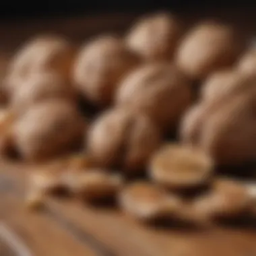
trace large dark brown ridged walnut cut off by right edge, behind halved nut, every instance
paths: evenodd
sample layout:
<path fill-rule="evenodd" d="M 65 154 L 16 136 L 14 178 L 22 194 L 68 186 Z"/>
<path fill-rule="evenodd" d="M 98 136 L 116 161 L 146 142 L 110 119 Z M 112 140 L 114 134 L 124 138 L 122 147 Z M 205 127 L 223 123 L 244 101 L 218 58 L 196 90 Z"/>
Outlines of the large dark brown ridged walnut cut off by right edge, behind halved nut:
<path fill-rule="evenodd" d="M 197 104 L 181 123 L 181 137 L 200 146 L 217 164 L 243 164 L 256 156 L 256 90 Z"/>

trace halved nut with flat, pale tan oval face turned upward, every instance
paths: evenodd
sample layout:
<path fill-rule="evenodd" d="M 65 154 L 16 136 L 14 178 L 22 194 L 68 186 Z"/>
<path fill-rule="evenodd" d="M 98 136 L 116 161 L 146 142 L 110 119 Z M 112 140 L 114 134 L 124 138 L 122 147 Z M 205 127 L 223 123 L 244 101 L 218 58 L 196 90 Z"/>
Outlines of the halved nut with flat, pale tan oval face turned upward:
<path fill-rule="evenodd" d="M 187 189 L 205 185 L 214 163 L 199 148 L 166 144 L 150 161 L 150 176 L 157 183 L 171 189 Z"/>

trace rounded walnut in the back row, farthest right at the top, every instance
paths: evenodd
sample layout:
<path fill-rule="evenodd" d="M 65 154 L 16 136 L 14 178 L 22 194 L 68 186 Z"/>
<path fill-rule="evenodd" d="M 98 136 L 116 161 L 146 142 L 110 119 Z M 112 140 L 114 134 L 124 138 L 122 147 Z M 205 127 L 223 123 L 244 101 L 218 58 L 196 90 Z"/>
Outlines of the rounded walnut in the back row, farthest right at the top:
<path fill-rule="evenodd" d="M 232 28 L 218 22 L 202 22 L 185 35 L 177 51 L 177 65 L 193 79 L 231 65 L 236 59 L 238 40 Z"/>

